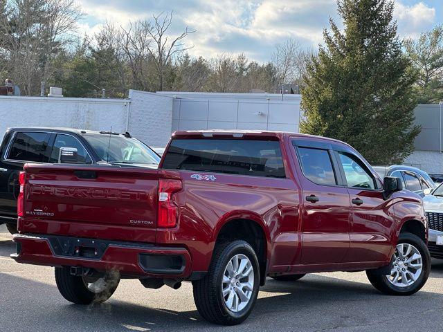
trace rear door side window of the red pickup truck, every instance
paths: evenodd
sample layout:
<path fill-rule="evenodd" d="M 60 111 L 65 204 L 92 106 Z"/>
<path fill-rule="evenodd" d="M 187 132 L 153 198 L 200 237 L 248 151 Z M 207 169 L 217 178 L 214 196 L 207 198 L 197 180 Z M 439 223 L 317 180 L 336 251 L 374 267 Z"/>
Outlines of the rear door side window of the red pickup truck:
<path fill-rule="evenodd" d="M 329 151 L 298 147 L 298 156 L 303 174 L 309 180 L 319 185 L 337 184 Z"/>

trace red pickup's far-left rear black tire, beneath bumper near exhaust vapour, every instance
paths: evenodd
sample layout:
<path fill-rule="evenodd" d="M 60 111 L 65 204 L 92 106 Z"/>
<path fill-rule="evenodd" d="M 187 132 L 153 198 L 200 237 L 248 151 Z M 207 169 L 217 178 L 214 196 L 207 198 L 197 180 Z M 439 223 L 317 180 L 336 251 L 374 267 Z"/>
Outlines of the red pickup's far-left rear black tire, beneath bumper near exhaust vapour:
<path fill-rule="evenodd" d="M 84 284 L 83 277 L 71 275 L 69 267 L 55 268 L 55 283 L 60 294 L 75 304 L 102 303 L 109 299 L 116 291 L 120 277 L 116 273 L 107 273 L 104 278 L 105 289 L 94 293 Z"/>

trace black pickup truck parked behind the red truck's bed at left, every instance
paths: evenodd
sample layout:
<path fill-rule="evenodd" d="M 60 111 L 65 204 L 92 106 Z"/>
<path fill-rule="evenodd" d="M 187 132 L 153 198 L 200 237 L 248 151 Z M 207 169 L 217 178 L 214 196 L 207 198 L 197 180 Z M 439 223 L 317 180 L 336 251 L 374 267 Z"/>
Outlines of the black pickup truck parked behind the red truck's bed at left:
<path fill-rule="evenodd" d="M 26 163 L 66 163 L 157 167 L 160 157 L 129 133 L 66 128 L 11 128 L 0 146 L 0 224 L 17 232 L 19 172 Z"/>

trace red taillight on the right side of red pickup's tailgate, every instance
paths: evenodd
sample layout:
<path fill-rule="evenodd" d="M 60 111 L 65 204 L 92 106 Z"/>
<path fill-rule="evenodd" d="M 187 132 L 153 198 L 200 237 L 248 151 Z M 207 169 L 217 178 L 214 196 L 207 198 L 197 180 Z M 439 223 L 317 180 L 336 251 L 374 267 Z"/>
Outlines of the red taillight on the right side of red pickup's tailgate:
<path fill-rule="evenodd" d="M 177 205 L 172 201 L 172 194 L 181 190 L 181 181 L 167 178 L 159 180 L 159 217 L 157 227 L 175 227 L 177 225 Z"/>

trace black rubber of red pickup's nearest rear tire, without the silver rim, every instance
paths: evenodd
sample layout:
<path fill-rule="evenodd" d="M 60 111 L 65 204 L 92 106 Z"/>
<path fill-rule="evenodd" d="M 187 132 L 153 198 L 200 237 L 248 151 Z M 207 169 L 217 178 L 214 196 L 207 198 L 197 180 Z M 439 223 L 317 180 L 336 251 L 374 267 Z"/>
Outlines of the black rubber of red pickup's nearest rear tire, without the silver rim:
<path fill-rule="evenodd" d="M 235 255 L 245 255 L 253 268 L 253 290 L 246 306 L 238 312 L 228 309 L 222 294 L 222 279 L 230 259 Z M 260 288 L 260 266 L 257 255 L 246 241 L 220 243 L 215 247 L 213 260 L 203 279 L 192 282 L 194 301 L 200 315 L 208 322 L 221 325 L 240 324 L 251 313 Z"/>

